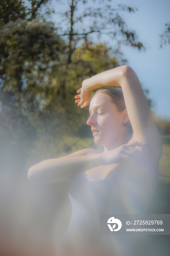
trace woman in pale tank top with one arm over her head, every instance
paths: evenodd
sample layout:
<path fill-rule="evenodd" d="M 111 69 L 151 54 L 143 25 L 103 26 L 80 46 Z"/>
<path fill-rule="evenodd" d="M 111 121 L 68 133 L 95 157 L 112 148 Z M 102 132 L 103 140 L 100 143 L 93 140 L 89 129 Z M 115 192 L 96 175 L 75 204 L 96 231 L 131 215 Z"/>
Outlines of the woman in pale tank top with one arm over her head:
<path fill-rule="evenodd" d="M 79 107 L 90 102 L 87 124 L 104 152 L 86 148 L 42 161 L 29 169 L 28 178 L 38 183 L 72 180 L 72 217 L 59 243 L 60 255 L 128 256 L 134 238 L 100 235 L 100 214 L 146 211 L 157 182 L 161 139 L 129 66 L 84 80 L 77 93 Z"/>

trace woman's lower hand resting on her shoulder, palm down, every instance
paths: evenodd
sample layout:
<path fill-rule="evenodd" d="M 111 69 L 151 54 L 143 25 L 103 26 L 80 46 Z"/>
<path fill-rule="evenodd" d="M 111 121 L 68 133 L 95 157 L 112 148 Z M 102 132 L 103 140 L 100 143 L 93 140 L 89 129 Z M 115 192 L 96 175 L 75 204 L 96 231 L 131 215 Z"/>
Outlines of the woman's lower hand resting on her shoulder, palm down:
<path fill-rule="evenodd" d="M 113 163 L 121 163 L 124 161 L 133 161 L 142 164 L 144 161 L 143 154 L 136 147 L 147 147 L 147 144 L 133 141 L 121 145 L 113 150 L 101 153 L 104 165 L 112 165 Z"/>

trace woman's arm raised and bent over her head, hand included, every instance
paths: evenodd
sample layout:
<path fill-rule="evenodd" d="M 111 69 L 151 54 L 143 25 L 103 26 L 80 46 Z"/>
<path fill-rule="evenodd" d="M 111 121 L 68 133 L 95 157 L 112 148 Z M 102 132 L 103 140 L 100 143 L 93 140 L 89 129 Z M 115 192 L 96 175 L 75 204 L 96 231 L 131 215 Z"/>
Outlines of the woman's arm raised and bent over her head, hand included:
<path fill-rule="evenodd" d="M 77 91 L 81 94 L 75 97 L 78 106 L 81 106 L 81 108 L 87 106 L 91 91 L 105 86 L 121 86 L 134 132 L 133 139 L 148 144 L 151 156 L 159 161 L 162 154 L 159 132 L 152 118 L 138 76 L 132 68 L 124 65 L 84 80 L 82 88 Z"/>

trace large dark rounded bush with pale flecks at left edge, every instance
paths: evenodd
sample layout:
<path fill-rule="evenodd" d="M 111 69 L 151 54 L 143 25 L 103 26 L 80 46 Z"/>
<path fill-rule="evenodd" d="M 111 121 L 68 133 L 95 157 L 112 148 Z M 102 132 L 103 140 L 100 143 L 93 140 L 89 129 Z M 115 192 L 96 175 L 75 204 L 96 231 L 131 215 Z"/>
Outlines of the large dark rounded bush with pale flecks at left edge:
<path fill-rule="evenodd" d="M 13 127 L 32 122 L 57 93 L 64 43 L 53 24 L 40 20 L 9 22 L 0 35 L 1 115 Z"/>

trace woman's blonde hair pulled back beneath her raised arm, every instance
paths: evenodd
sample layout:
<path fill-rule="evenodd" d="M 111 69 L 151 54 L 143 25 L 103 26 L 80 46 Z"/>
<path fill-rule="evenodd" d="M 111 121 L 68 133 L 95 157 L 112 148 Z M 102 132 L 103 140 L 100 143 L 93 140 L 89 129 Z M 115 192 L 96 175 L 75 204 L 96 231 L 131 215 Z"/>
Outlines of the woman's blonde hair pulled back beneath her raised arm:
<path fill-rule="evenodd" d="M 126 109 L 123 91 L 122 91 L 121 87 L 118 87 L 118 86 L 102 87 L 102 88 L 94 91 L 94 95 L 97 93 L 104 93 L 106 95 L 109 95 L 109 97 L 111 98 L 111 101 L 116 105 L 117 110 L 119 112 L 122 112 L 123 110 Z M 128 128 L 128 132 L 132 134 L 133 130 L 132 130 L 130 121 L 128 121 L 128 123 L 125 124 L 125 126 L 127 126 L 127 128 Z"/>

